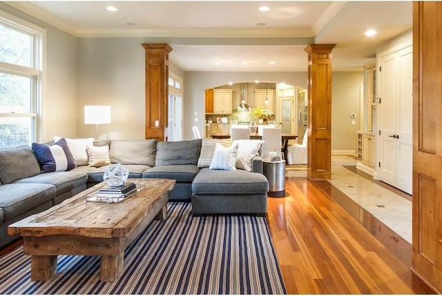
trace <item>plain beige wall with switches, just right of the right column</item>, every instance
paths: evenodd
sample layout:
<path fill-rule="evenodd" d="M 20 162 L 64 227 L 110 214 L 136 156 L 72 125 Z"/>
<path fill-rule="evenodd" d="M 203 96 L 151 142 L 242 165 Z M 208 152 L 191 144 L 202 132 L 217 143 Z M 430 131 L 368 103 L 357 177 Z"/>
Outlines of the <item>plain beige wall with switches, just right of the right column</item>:
<path fill-rule="evenodd" d="M 363 83 L 363 71 L 332 73 L 332 151 L 356 151 L 356 132 L 361 130 L 360 94 Z M 350 117 L 351 113 L 355 113 L 356 117 Z M 356 121 L 356 125 L 352 126 L 352 120 Z"/>

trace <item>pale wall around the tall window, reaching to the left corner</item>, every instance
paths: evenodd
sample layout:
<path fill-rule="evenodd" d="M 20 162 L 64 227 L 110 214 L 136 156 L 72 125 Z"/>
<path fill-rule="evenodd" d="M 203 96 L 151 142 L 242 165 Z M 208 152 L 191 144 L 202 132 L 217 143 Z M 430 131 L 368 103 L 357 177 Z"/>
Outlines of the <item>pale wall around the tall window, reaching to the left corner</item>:
<path fill-rule="evenodd" d="M 46 108 L 40 142 L 77 136 L 77 38 L 0 2 L 0 9 L 46 29 Z"/>

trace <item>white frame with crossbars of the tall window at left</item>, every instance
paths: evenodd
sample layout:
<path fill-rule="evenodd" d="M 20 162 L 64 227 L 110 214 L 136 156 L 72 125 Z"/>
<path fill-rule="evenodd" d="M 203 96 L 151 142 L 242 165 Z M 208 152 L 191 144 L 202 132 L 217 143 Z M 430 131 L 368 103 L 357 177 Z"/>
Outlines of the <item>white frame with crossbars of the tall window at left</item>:
<path fill-rule="evenodd" d="M 0 10 L 0 25 L 23 34 L 30 34 L 32 37 L 30 67 L 0 61 L 1 73 L 30 78 L 30 112 L 0 113 L 0 117 L 29 117 L 32 119 L 30 142 L 41 141 L 42 135 L 44 135 L 47 130 L 44 126 L 45 121 L 43 119 L 43 115 L 45 114 L 44 110 L 46 110 L 44 92 L 46 89 L 46 71 L 44 71 L 46 68 L 46 29 L 15 17 L 12 14 L 8 14 L 3 10 Z"/>

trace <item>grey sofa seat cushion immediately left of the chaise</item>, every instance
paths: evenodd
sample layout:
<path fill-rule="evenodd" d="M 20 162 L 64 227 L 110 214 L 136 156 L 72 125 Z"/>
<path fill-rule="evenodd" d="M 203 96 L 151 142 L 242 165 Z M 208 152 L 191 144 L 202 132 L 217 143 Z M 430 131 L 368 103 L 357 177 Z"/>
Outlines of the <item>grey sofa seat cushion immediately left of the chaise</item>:
<path fill-rule="evenodd" d="M 179 183 L 191 183 L 200 169 L 193 164 L 154 166 L 143 172 L 143 179 L 174 179 Z"/>

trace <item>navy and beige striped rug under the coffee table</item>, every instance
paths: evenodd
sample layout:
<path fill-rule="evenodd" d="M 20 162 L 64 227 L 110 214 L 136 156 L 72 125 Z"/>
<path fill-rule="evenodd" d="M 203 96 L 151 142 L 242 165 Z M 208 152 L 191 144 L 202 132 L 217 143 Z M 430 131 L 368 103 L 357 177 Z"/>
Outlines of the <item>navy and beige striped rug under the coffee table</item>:
<path fill-rule="evenodd" d="M 168 204 L 124 253 L 115 283 L 99 280 L 99 257 L 58 257 L 48 282 L 30 280 L 23 246 L 0 257 L 0 294 L 286 294 L 265 217 L 192 217 Z"/>

